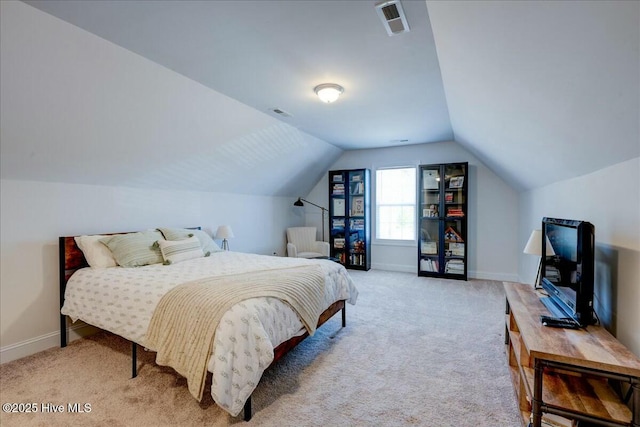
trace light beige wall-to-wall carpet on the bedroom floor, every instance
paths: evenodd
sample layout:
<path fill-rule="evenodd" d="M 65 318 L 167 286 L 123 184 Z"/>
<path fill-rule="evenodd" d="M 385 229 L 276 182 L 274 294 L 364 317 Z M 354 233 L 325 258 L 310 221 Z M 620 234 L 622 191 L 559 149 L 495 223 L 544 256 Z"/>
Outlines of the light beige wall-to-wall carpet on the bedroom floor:
<path fill-rule="evenodd" d="M 497 426 L 521 425 L 504 346 L 499 282 L 352 271 L 360 296 L 347 327 L 334 316 L 271 367 L 253 395 L 253 419 L 230 417 L 205 393 L 101 332 L 0 366 L 0 414 L 9 426 Z M 70 413 L 68 404 L 89 404 Z M 44 406 L 43 406 L 44 404 Z M 51 405 L 46 405 L 51 404 Z M 64 412 L 51 411 L 62 405 Z"/>

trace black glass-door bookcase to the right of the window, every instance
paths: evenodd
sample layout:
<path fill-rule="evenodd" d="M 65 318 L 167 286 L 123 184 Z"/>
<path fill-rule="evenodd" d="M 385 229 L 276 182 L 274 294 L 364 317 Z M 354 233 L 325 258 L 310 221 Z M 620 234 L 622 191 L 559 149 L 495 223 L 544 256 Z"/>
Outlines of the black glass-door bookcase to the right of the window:
<path fill-rule="evenodd" d="M 420 166 L 418 275 L 467 280 L 468 163 Z"/>

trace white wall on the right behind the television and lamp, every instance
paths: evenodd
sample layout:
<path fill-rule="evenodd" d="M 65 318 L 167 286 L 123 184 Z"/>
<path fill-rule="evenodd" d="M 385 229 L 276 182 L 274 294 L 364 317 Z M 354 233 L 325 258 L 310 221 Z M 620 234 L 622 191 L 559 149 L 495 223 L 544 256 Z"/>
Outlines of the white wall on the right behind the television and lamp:
<path fill-rule="evenodd" d="M 595 309 L 604 325 L 640 356 L 640 158 L 520 194 L 518 246 L 545 216 L 595 226 Z M 520 255 L 521 278 L 537 260 Z"/>

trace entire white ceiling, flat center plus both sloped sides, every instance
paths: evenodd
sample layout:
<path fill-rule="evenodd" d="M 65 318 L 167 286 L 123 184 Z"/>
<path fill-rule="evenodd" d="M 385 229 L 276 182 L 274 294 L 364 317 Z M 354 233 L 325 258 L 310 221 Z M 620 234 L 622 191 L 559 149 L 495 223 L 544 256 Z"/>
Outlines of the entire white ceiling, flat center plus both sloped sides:
<path fill-rule="evenodd" d="M 5 3 L 3 178 L 295 196 L 343 149 L 455 139 L 520 190 L 640 156 L 639 2 L 404 0 L 394 37 L 374 1 L 26 2 L 115 45 Z"/>

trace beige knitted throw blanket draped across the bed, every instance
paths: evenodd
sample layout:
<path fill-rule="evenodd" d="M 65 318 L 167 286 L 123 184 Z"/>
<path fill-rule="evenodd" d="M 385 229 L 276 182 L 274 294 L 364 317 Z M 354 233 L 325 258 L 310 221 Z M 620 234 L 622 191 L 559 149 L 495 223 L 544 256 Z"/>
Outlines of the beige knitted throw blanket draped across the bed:
<path fill-rule="evenodd" d="M 156 307 L 145 345 L 157 351 L 156 363 L 187 379 L 189 392 L 202 400 L 207 363 L 222 316 L 235 304 L 256 297 L 288 303 L 310 335 L 324 299 L 324 274 L 316 265 L 212 277 L 179 285 Z"/>

